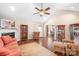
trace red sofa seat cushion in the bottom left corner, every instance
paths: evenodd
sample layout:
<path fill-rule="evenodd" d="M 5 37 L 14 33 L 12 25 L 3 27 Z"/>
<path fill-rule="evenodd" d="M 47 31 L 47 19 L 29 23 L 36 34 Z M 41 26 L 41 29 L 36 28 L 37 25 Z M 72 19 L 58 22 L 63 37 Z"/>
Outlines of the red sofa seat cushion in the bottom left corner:
<path fill-rule="evenodd" d="M 5 47 L 0 47 L 0 56 L 20 56 L 21 52 L 18 50 L 9 50 Z"/>

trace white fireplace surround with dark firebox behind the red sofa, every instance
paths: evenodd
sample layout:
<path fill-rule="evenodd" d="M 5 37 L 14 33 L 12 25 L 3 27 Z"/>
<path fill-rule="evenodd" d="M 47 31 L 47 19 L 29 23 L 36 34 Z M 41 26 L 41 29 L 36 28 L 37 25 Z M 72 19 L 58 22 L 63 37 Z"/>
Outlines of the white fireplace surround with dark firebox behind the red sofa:
<path fill-rule="evenodd" d="M 0 29 L 0 37 L 4 35 L 9 35 L 12 38 L 15 38 L 16 41 L 20 40 L 17 29 Z"/>

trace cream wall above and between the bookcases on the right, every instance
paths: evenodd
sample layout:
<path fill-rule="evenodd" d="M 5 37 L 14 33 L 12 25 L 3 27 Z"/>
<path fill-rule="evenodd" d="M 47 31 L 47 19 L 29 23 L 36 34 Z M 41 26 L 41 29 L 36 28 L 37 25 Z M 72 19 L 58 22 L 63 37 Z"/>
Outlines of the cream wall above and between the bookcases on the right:
<path fill-rule="evenodd" d="M 73 23 L 79 23 L 79 12 L 58 11 L 55 16 L 52 16 L 49 21 L 45 23 L 45 25 L 66 25 L 65 39 L 70 39 L 69 25 Z"/>

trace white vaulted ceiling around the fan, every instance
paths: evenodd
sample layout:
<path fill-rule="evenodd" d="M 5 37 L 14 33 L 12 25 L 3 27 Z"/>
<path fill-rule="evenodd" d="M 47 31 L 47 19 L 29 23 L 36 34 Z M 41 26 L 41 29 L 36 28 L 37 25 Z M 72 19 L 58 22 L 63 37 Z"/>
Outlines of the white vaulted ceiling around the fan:
<path fill-rule="evenodd" d="M 15 8 L 15 11 L 11 11 L 11 6 Z M 34 7 L 40 8 L 40 3 L 0 3 L 0 16 L 1 18 L 28 20 L 43 23 L 51 16 L 53 17 L 58 10 L 79 11 L 78 3 L 44 3 L 44 8 L 51 8 L 49 10 L 51 14 L 40 17 L 38 14 L 33 15 L 33 13 L 36 12 Z"/>

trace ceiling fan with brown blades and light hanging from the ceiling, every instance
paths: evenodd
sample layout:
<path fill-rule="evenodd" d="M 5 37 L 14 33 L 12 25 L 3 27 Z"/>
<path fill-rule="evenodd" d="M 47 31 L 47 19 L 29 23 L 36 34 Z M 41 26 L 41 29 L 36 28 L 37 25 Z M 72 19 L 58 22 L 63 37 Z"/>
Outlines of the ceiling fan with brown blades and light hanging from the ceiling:
<path fill-rule="evenodd" d="M 45 14 L 50 15 L 50 13 L 47 12 L 48 10 L 50 10 L 50 7 L 43 8 L 43 3 L 41 3 L 41 8 L 35 7 L 35 9 L 37 10 L 37 12 L 34 13 L 33 15 L 35 15 L 35 14 L 39 14 L 40 16 L 43 16 Z"/>

